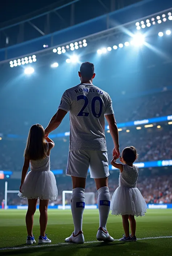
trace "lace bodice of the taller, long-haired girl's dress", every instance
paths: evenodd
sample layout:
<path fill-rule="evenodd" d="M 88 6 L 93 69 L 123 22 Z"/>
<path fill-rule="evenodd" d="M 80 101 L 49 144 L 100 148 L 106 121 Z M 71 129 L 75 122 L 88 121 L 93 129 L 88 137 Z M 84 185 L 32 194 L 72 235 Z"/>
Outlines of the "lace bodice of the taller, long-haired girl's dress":
<path fill-rule="evenodd" d="M 48 151 L 48 143 L 47 143 Z M 50 171 L 50 156 L 43 159 L 30 160 L 30 170 L 31 171 Z"/>

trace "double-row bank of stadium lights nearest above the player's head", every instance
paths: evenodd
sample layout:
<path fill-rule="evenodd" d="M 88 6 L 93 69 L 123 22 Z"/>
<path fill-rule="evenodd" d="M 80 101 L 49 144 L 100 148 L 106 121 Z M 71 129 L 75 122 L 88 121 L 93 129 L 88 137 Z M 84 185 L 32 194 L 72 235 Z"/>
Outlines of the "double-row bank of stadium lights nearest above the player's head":
<path fill-rule="evenodd" d="M 87 41 L 86 41 L 86 39 L 84 39 L 79 42 L 71 43 L 70 45 L 66 45 L 66 46 L 62 46 L 62 47 L 59 46 L 58 48 L 54 48 L 53 52 L 62 54 L 62 53 L 65 53 L 66 50 L 74 51 L 75 49 L 77 50 L 79 48 L 86 47 L 86 46 L 87 46 Z"/>

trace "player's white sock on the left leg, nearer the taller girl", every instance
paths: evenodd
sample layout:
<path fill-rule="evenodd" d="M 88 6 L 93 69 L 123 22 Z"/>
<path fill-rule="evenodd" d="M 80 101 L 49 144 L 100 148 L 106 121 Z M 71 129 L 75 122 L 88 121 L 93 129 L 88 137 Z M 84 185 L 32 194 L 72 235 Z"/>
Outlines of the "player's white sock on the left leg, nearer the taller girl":
<path fill-rule="evenodd" d="M 74 223 L 74 235 L 82 230 L 82 215 L 85 208 L 85 189 L 74 188 L 71 196 L 71 212 Z"/>

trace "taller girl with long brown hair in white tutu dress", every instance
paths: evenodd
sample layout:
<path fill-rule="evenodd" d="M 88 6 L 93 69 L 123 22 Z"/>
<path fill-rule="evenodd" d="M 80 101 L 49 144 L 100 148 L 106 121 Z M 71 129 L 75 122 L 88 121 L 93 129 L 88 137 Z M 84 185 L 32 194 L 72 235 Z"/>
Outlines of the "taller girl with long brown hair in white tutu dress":
<path fill-rule="evenodd" d="M 44 128 L 37 124 L 30 128 L 24 152 L 24 165 L 21 175 L 21 186 L 18 196 L 28 199 L 26 213 L 26 228 L 28 237 L 26 244 L 36 243 L 32 233 L 33 215 L 36 211 L 37 200 L 40 199 L 40 237 L 39 244 L 51 243 L 45 234 L 47 225 L 47 209 L 49 200 L 56 200 L 58 191 L 56 178 L 50 171 L 50 151 L 54 142 L 46 138 Z M 30 163 L 30 171 L 26 175 Z"/>

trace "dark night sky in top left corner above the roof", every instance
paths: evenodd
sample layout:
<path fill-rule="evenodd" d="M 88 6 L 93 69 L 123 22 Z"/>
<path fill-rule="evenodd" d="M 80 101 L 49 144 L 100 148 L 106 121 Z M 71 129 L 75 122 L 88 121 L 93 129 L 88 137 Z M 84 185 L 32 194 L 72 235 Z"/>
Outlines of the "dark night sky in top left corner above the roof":
<path fill-rule="evenodd" d="M 3 0 L 0 3 L 0 23 L 18 18 L 59 1 L 48 0 Z M 60 1 L 62 2 L 62 1 Z"/>

